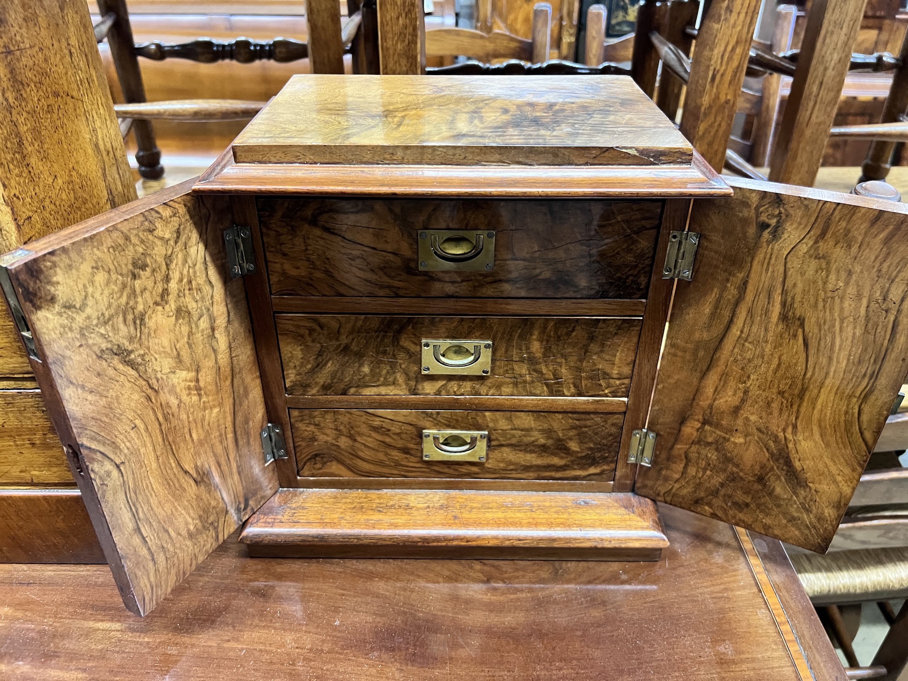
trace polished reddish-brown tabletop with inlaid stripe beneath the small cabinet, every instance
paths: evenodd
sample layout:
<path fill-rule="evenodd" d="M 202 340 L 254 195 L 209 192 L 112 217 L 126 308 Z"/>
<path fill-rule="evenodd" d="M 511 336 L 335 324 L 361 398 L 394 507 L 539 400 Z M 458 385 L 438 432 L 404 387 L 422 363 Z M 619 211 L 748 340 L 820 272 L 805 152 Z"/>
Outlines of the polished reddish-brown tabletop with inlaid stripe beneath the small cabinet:
<path fill-rule="evenodd" d="M 246 558 L 234 537 L 144 618 L 106 566 L 0 565 L 0 678 L 844 679 L 778 542 L 660 513 L 657 563 Z"/>

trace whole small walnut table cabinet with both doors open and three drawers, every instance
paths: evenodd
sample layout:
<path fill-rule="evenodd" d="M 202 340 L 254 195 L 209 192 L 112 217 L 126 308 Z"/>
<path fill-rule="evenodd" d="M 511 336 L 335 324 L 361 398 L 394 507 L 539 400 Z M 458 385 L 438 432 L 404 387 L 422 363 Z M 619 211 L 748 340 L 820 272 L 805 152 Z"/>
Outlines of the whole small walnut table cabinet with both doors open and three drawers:
<path fill-rule="evenodd" d="M 823 551 L 908 369 L 902 204 L 725 183 L 629 78 L 295 76 L 0 269 L 133 612 L 253 556 Z"/>

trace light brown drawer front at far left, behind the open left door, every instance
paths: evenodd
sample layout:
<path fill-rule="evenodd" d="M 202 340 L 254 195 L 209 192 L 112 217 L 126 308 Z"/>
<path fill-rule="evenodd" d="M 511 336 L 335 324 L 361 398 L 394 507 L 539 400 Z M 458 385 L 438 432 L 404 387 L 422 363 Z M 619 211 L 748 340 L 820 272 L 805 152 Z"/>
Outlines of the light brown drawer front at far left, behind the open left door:
<path fill-rule="evenodd" d="M 38 390 L 0 390 L 0 487 L 74 487 Z"/>

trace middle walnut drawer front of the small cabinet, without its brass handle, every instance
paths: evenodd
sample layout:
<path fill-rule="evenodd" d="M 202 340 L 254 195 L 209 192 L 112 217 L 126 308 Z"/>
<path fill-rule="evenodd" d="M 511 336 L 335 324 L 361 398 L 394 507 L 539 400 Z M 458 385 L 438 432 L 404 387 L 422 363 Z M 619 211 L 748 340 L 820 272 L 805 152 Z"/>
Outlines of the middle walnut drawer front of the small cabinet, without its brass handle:
<path fill-rule="evenodd" d="M 641 323 L 321 314 L 279 314 L 276 320 L 291 395 L 523 397 L 627 397 Z M 492 341 L 489 376 L 423 375 L 423 339 Z"/>

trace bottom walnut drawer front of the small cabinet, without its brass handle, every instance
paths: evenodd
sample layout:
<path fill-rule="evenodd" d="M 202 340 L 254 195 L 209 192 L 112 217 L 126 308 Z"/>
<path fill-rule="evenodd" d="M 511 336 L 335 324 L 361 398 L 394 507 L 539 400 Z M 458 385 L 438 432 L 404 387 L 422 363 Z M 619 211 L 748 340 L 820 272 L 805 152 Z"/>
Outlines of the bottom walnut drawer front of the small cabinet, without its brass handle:
<path fill-rule="evenodd" d="M 600 413 L 291 410 L 302 478 L 607 481 L 623 422 Z M 488 430 L 487 459 L 424 461 L 423 429 Z"/>

